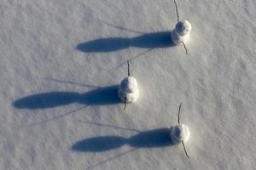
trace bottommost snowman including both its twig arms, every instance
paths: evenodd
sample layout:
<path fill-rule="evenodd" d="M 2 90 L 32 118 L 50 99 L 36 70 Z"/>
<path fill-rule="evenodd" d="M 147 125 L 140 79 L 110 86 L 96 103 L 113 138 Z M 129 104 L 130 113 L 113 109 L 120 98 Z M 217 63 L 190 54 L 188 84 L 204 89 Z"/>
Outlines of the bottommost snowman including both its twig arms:
<path fill-rule="evenodd" d="M 185 151 L 186 156 L 188 156 L 187 150 L 185 148 L 185 143 L 189 140 L 190 137 L 190 131 L 189 131 L 189 127 L 185 124 L 181 124 L 179 122 L 179 114 L 180 114 L 180 109 L 181 109 L 181 105 L 182 103 L 180 103 L 179 105 L 179 109 L 178 109 L 178 118 L 177 118 L 177 125 L 174 127 L 170 127 L 170 136 L 172 139 L 172 142 L 174 144 L 183 144 L 183 149 Z M 189 156 L 188 156 L 189 158 Z"/>

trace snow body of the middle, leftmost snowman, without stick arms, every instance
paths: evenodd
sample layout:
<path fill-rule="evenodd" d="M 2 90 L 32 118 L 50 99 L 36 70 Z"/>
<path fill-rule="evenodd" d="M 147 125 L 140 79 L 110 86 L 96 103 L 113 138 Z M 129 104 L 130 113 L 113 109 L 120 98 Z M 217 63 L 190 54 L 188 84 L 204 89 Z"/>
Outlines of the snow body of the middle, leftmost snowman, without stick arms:
<path fill-rule="evenodd" d="M 125 77 L 119 85 L 119 99 L 126 102 L 136 102 L 139 97 L 137 80 L 135 77 Z"/>

